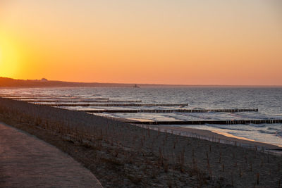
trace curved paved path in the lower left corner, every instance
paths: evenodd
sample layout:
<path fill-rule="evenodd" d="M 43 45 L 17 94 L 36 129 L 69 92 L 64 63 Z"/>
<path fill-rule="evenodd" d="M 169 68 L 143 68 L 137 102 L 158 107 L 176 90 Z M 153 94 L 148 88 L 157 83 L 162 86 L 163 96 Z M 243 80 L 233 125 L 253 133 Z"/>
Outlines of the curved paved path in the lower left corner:
<path fill-rule="evenodd" d="M 59 149 L 0 123 L 0 187 L 102 187 Z"/>

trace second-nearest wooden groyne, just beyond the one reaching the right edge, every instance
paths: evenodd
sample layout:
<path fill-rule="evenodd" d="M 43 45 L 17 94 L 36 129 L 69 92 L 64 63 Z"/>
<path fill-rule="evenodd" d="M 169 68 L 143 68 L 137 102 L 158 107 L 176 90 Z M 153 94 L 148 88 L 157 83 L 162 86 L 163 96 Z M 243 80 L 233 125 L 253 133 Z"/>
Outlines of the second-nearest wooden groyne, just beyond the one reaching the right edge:
<path fill-rule="evenodd" d="M 236 112 L 257 112 L 258 108 L 250 109 L 172 109 L 172 110 L 85 110 L 87 113 L 236 113 Z"/>

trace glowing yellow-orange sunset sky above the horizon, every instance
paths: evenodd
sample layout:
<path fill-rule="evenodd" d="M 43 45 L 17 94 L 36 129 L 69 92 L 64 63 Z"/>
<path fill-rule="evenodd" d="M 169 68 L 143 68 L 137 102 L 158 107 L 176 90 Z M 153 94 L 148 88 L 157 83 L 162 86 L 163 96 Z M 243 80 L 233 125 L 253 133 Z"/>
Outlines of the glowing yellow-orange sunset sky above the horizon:
<path fill-rule="evenodd" d="M 0 76 L 282 85 L 279 0 L 0 0 Z"/>

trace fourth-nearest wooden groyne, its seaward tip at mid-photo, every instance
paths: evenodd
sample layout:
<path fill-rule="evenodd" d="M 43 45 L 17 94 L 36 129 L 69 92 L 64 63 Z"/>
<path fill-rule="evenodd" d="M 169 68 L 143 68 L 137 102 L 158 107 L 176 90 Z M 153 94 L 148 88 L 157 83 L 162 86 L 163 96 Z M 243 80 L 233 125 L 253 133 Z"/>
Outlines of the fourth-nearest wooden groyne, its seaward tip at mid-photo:
<path fill-rule="evenodd" d="M 39 103 L 44 103 L 44 102 L 56 102 L 56 103 L 78 103 L 78 102 L 91 102 L 91 103 L 141 103 L 141 100 L 97 100 L 97 99 L 87 99 L 87 100 L 80 100 L 80 99 L 73 99 L 73 100 L 30 100 L 30 99 L 22 99 L 21 101 L 26 101 L 26 102 L 39 102 Z"/>

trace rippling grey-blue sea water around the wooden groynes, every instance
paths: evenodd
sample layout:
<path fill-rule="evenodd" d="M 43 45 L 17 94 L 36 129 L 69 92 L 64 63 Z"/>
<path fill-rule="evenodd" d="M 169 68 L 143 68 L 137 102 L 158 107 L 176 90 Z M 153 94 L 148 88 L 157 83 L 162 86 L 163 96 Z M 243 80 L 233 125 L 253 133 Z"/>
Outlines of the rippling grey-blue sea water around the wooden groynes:
<path fill-rule="evenodd" d="M 282 119 L 282 87 L 69 87 L 0 89 L 0 94 L 37 96 L 39 98 L 66 97 L 66 99 L 73 99 L 74 97 L 78 97 L 80 99 L 109 98 L 111 100 L 142 100 L 141 104 L 189 104 L 189 106 L 169 107 L 63 107 L 71 110 L 259 108 L 258 112 L 241 113 L 97 113 L 97 115 L 127 118 L 132 120 L 175 121 Z M 49 102 L 42 104 L 48 103 Z M 236 137 L 253 139 L 258 142 L 282 145 L 282 124 L 169 126 L 194 127 L 197 129 L 212 130 L 232 134 Z"/>

